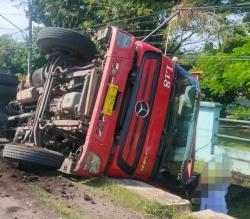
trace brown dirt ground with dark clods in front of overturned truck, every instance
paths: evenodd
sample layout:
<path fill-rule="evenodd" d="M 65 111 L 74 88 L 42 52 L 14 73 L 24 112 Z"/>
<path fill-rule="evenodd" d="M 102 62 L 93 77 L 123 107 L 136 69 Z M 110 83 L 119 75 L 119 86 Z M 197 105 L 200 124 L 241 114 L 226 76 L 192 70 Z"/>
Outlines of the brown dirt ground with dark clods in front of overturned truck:
<path fill-rule="evenodd" d="M 112 200 L 78 186 L 58 172 L 25 172 L 15 164 L 3 161 L 0 149 L 0 218 L 59 219 L 65 218 L 48 207 L 32 192 L 38 188 L 74 210 L 78 218 L 144 218 L 117 206 Z M 67 218 L 67 217 L 66 217 Z"/>

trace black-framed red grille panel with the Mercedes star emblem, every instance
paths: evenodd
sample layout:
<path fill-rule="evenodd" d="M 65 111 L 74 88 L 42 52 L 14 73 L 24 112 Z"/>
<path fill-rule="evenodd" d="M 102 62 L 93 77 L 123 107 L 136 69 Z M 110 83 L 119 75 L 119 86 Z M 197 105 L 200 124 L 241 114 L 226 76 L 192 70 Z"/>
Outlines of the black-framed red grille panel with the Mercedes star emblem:
<path fill-rule="evenodd" d="M 145 52 L 136 72 L 132 96 L 118 143 L 120 147 L 118 166 L 128 175 L 134 173 L 141 156 L 160 74 L 161 60 L 160 53 Z"/>

